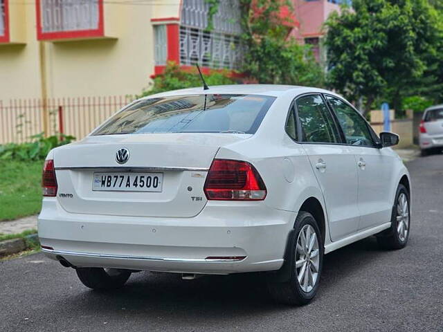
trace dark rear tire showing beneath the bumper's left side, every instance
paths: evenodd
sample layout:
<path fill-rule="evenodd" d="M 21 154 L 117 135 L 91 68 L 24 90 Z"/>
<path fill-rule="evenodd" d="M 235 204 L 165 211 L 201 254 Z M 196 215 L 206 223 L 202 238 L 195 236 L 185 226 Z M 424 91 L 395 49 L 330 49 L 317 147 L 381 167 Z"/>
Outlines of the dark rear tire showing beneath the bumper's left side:
<path fill-rule="evenodd" d="M 76 268 L 75 271 L 84 286 L 96 290 L 123 287 L 132 273 L 118 268 Z"/>

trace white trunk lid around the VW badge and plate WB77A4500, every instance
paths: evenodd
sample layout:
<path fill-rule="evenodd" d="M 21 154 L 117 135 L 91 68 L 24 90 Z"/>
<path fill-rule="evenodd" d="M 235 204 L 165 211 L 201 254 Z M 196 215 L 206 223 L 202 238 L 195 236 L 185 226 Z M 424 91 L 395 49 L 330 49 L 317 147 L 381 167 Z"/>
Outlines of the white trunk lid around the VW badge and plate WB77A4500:
<path fill-rule="evenodd" d="M 154 133 L 89 136 L 55 149 L 57 200 L 72 213 L 120 216 L 190 217 L 206 205 L 204 181 L 219 147 L 251 135 Z M 116 152 L 125 148 L 123 165 Z M 94 173 L 162 174 L 161 192 L 93 190 Z"/>

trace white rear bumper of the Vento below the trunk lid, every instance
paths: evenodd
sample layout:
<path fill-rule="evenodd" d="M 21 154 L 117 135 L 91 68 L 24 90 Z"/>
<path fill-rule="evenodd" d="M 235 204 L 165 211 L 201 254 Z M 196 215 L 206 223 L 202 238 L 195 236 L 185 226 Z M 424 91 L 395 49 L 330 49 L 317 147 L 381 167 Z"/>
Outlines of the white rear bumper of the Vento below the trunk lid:
<path fill-rule="evenodd" d="M 73 266 L 228 274 L 278 270 L 295 218 L 264 202 L 210 202 L 182 219 L 73 214 L 45 198 L 38 228 L 45 255 Z"/>

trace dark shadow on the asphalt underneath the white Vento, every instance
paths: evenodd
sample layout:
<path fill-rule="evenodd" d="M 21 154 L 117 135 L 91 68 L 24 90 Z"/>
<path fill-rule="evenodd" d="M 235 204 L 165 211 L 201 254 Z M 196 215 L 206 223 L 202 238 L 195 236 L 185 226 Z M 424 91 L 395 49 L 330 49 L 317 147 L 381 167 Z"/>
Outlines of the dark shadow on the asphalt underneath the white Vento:
<path fill-rule="evenodd" d="M 343 282 L 354 270 L 370 264 L 386 252 L 379 250 L 375 239 L 364 239 L 325 256 L 321 293 L 336 282 Z M 180 275 L 168 273 L 135 273 L 127 285 L 117 291 L 103 293 L 87 288 L 69 302 L 93 308 L 95 314 L 109 315 L 130 310 L 134 314 L 149 312 L 163 316 L 174 313 L 186 319 L 204 317 L 240 317 L 253 312 L 281 311 L 288 306 L 276 305 L 266 292 L 264 275 L 243 274 L 208 276 L 182 281 Z M 66 303 L 66 302 L 65 302 Z M 128 311 L 127 311 L 128 313 Z"/>

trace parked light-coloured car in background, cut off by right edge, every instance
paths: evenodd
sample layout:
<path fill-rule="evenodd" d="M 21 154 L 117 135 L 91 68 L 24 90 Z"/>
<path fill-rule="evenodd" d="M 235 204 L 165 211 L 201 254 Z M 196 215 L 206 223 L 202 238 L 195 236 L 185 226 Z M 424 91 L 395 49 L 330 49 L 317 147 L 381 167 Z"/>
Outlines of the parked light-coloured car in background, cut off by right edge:
<path fill-rule="evenodd" d="M 422 156 L 433 150 L 443 149 L 443 104 L 429 107 L 424 111 L 419 131 Z"/>

